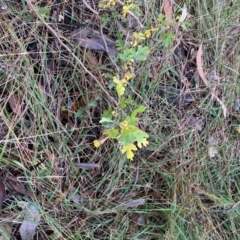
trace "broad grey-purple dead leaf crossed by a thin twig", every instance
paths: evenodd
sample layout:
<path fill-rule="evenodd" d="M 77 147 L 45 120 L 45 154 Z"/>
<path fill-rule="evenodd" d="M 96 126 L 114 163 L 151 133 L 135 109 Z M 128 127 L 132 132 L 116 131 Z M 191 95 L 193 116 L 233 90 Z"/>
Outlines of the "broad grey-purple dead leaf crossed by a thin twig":
<path fill-rule="evenodd" d="M 118 54 L 115 42 L 105 35 L 101 35 L 101 33 L 96 30 L 78 28 L 71 33 L 71 36 L 72 40 L 83 48 L 105 52 L 108 51 L 108 53 L 113 56 Z"/>

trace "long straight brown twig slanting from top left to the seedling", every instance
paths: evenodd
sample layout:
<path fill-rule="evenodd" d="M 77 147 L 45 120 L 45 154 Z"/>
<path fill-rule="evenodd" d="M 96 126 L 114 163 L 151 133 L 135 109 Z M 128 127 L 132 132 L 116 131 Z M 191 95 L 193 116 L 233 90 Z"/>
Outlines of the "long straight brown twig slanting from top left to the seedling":
<path fill-rule="evenodd" d="M 32 5 L 30 0 L 26 0 L 27 4 L 29 6 L 29 8 L 31 9 L 31 11 L 36 15 L 37 18 L 39 18 L 42 23 L 46 26 L 46 28 L 56 37 L 56 39 L 58 40 L 59 44 L 64 47 L 69 54 L 76 60 L 76 62 L 83 68 L 83 70 L 89 74 L 95 81 L 96 83 L 99 85 L 99 87 L 103 90 L 103 92 L 108 96 L 109 99 L 112 100 L 112 102 L 117 106 L 117 102 L 116 100 L 110 96 L 110 94 L 106 91 L 106 89 L 104 88 L 104 86 L 100 83 L 100 81 L 97 79 L 97 77 L 92 74 L 83 64 L 83 62 L 72 52 L 72 50 L 60 39 L 60 37 L 58 36 L 58 34 L 56 33 L 56 31 L 41 17 L 41 15 L 36 12 L 34 10 L 34 6 Z"/>

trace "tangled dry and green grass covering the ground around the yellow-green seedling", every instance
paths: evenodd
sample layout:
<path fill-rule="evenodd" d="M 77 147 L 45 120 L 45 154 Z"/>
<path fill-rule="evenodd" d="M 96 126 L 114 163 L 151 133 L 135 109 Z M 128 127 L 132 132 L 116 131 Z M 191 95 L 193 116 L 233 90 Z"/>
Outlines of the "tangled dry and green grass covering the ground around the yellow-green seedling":
<path fill-rule="evenodd" d="M 68 24 L 88 20 L 98 29 L 98 17 L 78 2 L 62 6 L 71 17 Z M 12 227 L 12 239 L 19 239 L 17 203 L 22 200 L 33 202 L 42 214 L 35 239 L 240 238 L 235 131 L 240 124 L 240 6 L 217 0 L 186 5 L 188 30 L 170 28 L 175 40 L 169 48 L 163 46 L 162 32 L 156 32 L 147 42 L 147 62 L 136 63 L 128 94 L 136 106 L 143 101 L 148 106 L 140 127 L 150 135 L 150 146 L 134 162 L 114 142 L 98 150 L 92 144 L 101 135 L 101 112 L 114 104 L 108 86 L 116 68 L 108 56 L 77 48 L 70 40 L 74 26 L 54 28 L 69 52 L 27 5 L 9 1 L 8 10 L 1 10 L 0 169 L 6 197 L 0 223 Z M 182 6 L 182 1 L 174 5 L 174 15 Z M 144 24 L 155 25 L 162 9 L 158 1 L 145 1 Z M 109 12 L 111 22 L 104 28 L 114 39 L 118 15 Z M 201 42 L 203 68 L 218 76 L 209 81 L 227 107 L 226 119 L 196 71 L 194 53 Z M 180 93 L 159 96 L 162 87 L 192 94 L 194 101 L 171 102 Z M 217 149 L 212 158 L 210 138 Z M 101 167 L 79 168 L 79 162 Z M 13 192 L 7 173 L 34 197 Z M 139 199 L 145 204 L 126 207 Z"/>

